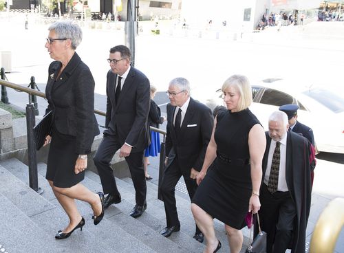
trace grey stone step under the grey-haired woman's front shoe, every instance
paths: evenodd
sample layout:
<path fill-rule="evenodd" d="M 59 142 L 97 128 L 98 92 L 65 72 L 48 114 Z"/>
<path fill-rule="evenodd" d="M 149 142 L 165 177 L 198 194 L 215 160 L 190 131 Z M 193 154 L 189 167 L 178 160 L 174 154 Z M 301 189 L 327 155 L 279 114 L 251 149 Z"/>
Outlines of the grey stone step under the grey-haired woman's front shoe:
<path fill-rule="evenodd" d="M 22 180 L 28 182 L 28 166 L 21 163 L 18 159 L 9 159 L 2 161 L 3 166 L 8 167 L 17 174 Z M 39 171 L 45 175 L 46 166 L 45 164 L 39 164 Z M 51 187 L 47 183 L 47 180 L 39 173 L 40 186 L 44 189 L 43 197 L 45 201 L 54 206 L 51 210 L 40 212 L 31 217 L 37 225 L 39 225 L 50 238 L 54 239 L 54 235 L 57 230 L 62 229 L 67 225 L 67 217 L 64 210 L 54 197 Z M 45 184 L 44 184 L 45 183 Z M 97 191 L 100 190 L 98 187 Z M 70 236 L 68 240 L 58 240 L 58 245 L 64 249 L 60 252 L 155 252 L 144 243 L 141 243 L 136 238 L 122 230 L 122 228 L 114 226 L 111 221 L 104 219 L 102 225 L 94 226 L 92 217 L 92 209 L 89 208 L 87 203 L 82 201 L 76 201 L 78 210 L 85 217 L 87 225 L 84 226 L 83 232 L 76 231 L 74 233 L 80 233 L 79 236 Z M 56 208 L 55 208 L 56 207 Z M 54 219 L 52 219 L 54 217 Z M 94 236 L 94 235 L 97 236 Z M 120 240 L 114 240 L 114 238 L 120 238 Z M 118 251 L 117 251 L 118 250 Z"/>

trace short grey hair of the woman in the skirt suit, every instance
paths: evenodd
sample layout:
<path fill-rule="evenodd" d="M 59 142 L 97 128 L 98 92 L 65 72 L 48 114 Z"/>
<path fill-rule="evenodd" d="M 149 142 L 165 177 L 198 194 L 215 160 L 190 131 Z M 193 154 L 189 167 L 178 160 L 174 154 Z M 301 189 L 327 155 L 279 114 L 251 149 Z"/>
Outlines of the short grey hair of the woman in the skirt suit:
<path fill-rule="evenodd" d="M 47 30 L 54 31 L 59 39 L 70 39 L 74 50 L 76 50 L 76 47 L 78 47 L 83 40 L 83 31 L 80 26 L 76 23 L 72 23 L 72 21 L 56 21 L 52 23 Z"/>

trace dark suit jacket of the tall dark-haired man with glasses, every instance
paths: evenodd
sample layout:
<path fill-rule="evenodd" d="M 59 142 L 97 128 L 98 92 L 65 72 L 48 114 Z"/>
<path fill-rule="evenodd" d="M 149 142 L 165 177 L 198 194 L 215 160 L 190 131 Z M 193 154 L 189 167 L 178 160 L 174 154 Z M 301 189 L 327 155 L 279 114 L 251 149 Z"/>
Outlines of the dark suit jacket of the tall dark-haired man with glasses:
<path fill-rule="evenodd" d="M 115 135 L 122 144 L 133 146 L 132 153 L 149 146 L 148 113 L 151 100 L 149 80 L 142 72 L 131 66 L 116 103 L 117 74 L 107 73 L 107 113 L 105 134 Z"/>

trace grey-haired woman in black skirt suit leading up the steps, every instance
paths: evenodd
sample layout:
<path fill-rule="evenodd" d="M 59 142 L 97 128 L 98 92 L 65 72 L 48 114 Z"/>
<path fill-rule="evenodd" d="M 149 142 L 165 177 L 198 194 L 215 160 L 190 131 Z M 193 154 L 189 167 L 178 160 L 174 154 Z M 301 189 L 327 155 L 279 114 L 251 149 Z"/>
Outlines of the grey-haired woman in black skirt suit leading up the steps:
<path fill-rule="evenodd" d="M 70 21 L 53 23 L 48 30 L 45 47 L 55 61 L 49 66 L 45 89 L 49 103 L 46 113 L 52 111 L 53 115 L 52 131 L 44 144 L 50 143 L 45 178 L 69 218 L 67 227 L 55 238 L 66 239 L 85 225 L 75 199 L 89 203 L 94 225 L 104 216 L 103 192 L 92 192 L 81 184 L 87 154 L 99 129 L 94 115 L 94 78 L 75 52 L 83 38 L 82 30 Z"/>

